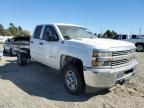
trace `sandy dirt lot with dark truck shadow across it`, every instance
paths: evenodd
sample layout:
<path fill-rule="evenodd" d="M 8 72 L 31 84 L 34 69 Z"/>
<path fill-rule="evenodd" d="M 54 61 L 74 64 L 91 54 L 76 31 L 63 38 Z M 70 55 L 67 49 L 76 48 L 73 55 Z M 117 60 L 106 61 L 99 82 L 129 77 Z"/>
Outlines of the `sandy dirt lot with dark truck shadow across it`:
<path fill-rule="evenodd" d="M 15 57 L 0 62 L 0 108 L 144 108 L 144 52 L 137 53 L 138 72 L 126 85 L 73 96 L 57 72 L 39 63 L 20 67 Z"/>

